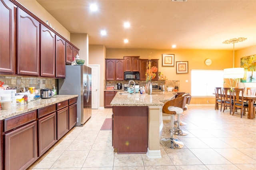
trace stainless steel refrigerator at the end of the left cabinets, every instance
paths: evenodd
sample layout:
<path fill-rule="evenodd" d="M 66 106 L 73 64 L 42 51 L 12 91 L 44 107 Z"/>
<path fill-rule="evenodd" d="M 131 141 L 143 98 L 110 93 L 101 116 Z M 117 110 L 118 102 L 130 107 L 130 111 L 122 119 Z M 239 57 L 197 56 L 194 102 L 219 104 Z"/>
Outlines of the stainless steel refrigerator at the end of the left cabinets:
<path fill-rule="evenodd" d="M 76 126 L 83 126 L 92 116 L 92 68 L 66 65 L 66 78 L 58 83 L 58 94 L 78 94 Z"/>

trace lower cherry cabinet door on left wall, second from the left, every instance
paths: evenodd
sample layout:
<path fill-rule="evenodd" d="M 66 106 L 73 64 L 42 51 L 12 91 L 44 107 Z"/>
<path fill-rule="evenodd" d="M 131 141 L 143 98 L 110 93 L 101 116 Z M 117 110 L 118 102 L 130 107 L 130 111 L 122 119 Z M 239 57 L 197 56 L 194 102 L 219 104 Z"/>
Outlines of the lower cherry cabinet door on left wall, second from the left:
<path fill-rule="evenodd" d="M 38 120 L 38 149 L 42 156 L 57 141 L 56 112 Z"/>

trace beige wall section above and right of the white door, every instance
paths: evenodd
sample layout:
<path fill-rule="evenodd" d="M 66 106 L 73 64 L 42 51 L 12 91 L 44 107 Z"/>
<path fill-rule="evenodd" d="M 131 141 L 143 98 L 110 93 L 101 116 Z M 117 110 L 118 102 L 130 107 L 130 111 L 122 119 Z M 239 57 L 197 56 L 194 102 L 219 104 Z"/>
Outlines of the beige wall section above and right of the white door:
<path fill-rule="evenodd" d="M 100 64 L 100 107 L 104 107 L 105 57 L 106 47 L 104 45 L 89 45 L 89 64 Z"/>

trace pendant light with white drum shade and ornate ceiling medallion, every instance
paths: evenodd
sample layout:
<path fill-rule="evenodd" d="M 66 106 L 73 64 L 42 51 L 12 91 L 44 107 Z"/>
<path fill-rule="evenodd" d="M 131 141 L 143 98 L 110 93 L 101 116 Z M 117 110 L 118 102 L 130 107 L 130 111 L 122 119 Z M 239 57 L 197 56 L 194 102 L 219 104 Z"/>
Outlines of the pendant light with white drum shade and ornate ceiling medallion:
<path fill-rule="evenodd" d="M 233 68 L 225 68 L 224 69 L 224 78 L 232 78 L 233 81 L 235 78 L 244 78 L 244 68 L 235 68 L 234 67 L 234 59 L 235 59 L 235 43 L 242 42 L 247 38 L 240 37 L 240 38 L 233 38 L 226 41 L 223 41 L 224 44 L 233 43 Z"/>

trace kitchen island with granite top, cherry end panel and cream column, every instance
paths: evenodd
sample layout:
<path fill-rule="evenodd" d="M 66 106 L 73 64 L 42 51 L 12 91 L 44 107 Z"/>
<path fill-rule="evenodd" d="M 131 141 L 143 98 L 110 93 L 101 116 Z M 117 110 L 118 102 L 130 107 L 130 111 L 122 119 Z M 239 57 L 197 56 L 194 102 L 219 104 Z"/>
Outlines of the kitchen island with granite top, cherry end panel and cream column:
<path fill-rule="evenodd" d="M 118 153 L 146 153 L 149 158 L 161 158 L 159 131 L 162 106 L 174 99 L 173 92 L 148 94 L 118 92 L 110 105 L 112 115 L 112 145 Z"/>

